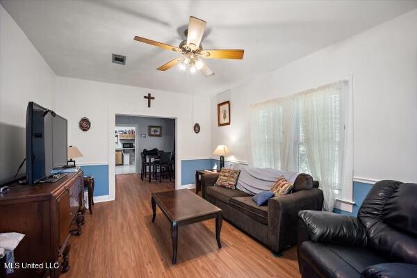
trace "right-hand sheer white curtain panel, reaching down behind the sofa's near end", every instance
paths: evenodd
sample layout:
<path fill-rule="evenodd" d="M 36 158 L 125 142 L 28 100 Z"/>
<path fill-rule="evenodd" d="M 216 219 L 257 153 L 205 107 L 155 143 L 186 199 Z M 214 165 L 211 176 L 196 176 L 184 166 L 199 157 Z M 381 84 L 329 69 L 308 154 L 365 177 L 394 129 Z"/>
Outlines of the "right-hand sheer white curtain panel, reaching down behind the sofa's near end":
<path fill-rule="evenodd" d="M 333 211 L 343 181 L 347 81 L 297 95 L 307 167 L 320 182 L 325 211 Z"/>

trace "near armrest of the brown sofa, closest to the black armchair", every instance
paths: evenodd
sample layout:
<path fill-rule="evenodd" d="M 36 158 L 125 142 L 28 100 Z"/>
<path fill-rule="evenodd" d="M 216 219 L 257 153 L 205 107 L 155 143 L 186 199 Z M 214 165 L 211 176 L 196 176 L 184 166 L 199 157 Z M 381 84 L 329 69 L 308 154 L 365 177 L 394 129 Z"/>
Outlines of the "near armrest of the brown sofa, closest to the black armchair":
<path fill-rule="evenodd" d="M 298 212 L 306 209 L 321 211 L 323 193 L 318 188 L 300 190 L 268 201 L 268 241 L 274 252 L 295 245 Z"/>

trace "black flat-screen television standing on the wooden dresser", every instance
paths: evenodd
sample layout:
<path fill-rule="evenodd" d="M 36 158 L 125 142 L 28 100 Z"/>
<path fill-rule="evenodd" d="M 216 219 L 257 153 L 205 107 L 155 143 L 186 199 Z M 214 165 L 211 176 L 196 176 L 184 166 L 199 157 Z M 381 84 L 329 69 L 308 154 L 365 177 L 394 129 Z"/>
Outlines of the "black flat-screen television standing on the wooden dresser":
<path fill-rule="evenodd" d="M 26 110 L 26 183 L 35 184 L 67 165 L 67 120 L 28 103 Z"/>

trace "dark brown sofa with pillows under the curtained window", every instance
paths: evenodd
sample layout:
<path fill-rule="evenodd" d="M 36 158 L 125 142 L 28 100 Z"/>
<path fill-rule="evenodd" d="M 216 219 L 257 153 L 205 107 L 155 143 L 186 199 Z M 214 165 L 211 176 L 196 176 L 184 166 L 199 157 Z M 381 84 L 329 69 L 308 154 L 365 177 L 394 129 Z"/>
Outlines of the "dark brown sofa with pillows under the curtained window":
<path fill-rule="evenodd" d="M 214 186 L 218 173 L 202 176 L 202 196 L 208 202 L 222 208 L 225 220 L 242 229 L 268 246 L 272 252 L 281 253 L 295 245 L 298 212 L 321 211 L 322 190 L 309 174 L 300 174 L 294 182 L 293 193 L 273 197 L 266 206 L 257 206 L 249 195 L 241 190 Z"/>

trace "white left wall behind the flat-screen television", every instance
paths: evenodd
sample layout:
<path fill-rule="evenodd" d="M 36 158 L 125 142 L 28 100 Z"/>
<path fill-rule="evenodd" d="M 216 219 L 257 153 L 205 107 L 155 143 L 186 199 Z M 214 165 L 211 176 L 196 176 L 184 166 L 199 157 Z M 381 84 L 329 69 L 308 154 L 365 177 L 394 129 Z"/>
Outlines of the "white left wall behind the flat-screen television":
<path fill-rule="evenodd" d="M 28 101 L 55 109 L 55 94 L 56 75 L 0 5 L 0 182 L 26 157 Z"/>

